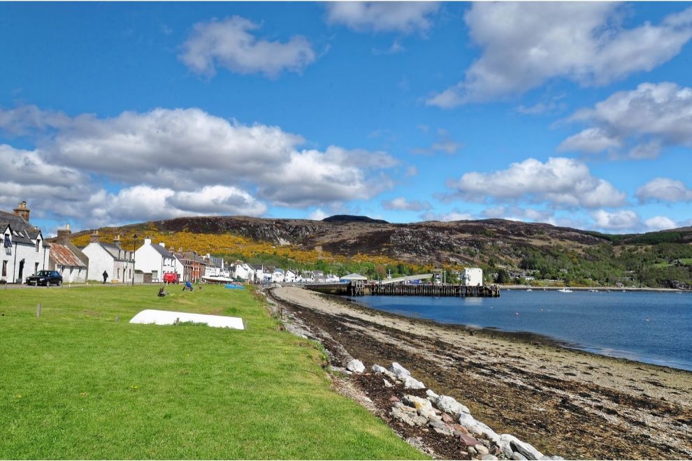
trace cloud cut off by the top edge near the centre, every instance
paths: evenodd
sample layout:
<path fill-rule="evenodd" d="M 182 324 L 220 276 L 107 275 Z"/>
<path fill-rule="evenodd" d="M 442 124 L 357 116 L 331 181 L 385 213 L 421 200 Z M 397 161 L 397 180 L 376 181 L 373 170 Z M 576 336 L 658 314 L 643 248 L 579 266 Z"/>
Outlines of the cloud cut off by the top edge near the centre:
<path fill-rule="evenodd" d="M 333 1 L 326 3 L 327 22 L 355 31 L 427 31 L 430 16 L 440 7 L 428 1 Z"/>

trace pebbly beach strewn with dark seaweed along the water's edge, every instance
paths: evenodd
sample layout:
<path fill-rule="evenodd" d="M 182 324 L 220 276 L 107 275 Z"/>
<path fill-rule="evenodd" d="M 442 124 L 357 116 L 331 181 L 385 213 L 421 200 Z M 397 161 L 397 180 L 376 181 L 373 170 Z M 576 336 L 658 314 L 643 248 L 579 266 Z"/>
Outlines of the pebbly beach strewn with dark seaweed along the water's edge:
<path fill-rule="evenodd" d="M 269 295 L 285 321 L 300 323 L 324 344 L 334 366 L 345 366 L 340 360 L 347 356 L 367 369 L 401 363 L 498 434 L 547 455 L 692 458 L 691 372 L 565 349 L 531 335 L 408 319 L 303 288 L 273 288 Z M 469 458 L 459 447 L 441 446 L 436 434 L 396 425 L 387 416 L 387 390 L 373 384 L 382 380 L 371 378 L 350 379 L 394 430 L 428 441 L 438 458 Z"/>

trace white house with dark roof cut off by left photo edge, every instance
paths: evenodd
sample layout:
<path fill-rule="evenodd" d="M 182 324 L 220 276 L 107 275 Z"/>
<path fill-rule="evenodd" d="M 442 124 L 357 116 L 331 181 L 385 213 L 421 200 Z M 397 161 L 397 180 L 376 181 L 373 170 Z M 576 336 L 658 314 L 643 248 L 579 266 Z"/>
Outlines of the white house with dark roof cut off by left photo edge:
<path fill-rule="evenodd" d="M 50 244 L 43 242 L 40 229 L 29 224 L 26 202 L 13 211 L 0 211 L 0 281 L 22 284 L 29 275 L 48 269 Z"/>

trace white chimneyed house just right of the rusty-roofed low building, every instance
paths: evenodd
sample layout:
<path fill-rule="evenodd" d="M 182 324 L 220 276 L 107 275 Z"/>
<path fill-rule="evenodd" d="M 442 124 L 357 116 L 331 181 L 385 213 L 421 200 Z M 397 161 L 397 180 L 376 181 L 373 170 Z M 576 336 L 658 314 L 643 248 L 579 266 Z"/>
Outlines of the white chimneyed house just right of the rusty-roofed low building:
<path fill-rule="evenodd" d="M 108 281 L 113 283 L 131 283 L 134 277 L 134 253 L 122 249 L 120 235 L 113 239 L 113 244 L 101 243 L 99 231 L 90 236 L 89 244 L 82 248 L 82 253 L 89 258 L 87 280 L 103 281 L 103 272 L 108 273 Z"/>

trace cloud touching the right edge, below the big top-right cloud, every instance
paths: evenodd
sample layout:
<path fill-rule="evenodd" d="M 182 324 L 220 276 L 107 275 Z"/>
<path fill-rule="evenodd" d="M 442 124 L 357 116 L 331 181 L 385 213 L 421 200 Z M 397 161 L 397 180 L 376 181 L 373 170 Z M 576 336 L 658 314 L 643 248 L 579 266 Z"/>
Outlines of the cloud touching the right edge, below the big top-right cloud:
<path fill-rule="evenodd" d="M 630 158 L 654 159 L 665 146 L 692 147 L 692 88 L 642 83 L 575 112 L 570 121 L 591 126 L 564 140 L 558 150 L 596 153 L 627 147 Z"/>

